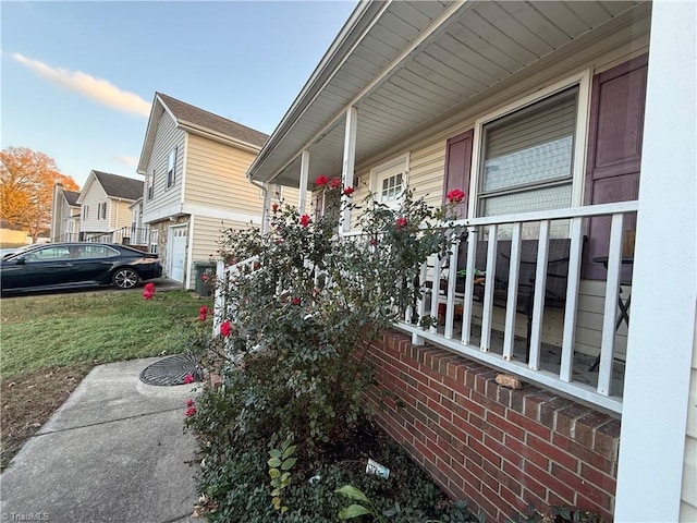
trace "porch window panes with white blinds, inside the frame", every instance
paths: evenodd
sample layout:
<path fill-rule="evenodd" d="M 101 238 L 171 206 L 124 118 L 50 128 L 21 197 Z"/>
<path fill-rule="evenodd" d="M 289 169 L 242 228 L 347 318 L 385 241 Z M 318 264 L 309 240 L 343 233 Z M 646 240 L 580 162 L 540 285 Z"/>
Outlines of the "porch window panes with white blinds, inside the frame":
<path fill-rule="evenodd" d="M 479 216 L 571 205 L 577 106 L 573 87 L 482 126 Z"/>

